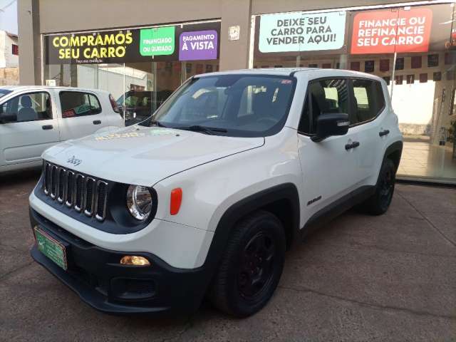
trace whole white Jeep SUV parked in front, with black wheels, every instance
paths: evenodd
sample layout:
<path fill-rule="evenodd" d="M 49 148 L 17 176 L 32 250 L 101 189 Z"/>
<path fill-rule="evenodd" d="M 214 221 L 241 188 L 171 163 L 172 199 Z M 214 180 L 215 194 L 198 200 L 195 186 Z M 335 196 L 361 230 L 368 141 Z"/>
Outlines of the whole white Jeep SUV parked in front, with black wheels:
<path fill-rule="evenodd" d="M 31 255 L 101 311 L 195 311 L 207 295 L 249 316 L 311 229 L 387 211 L 402 145 L 377 76 L 194 76 L 140 125 L 45 152 Z"/>

